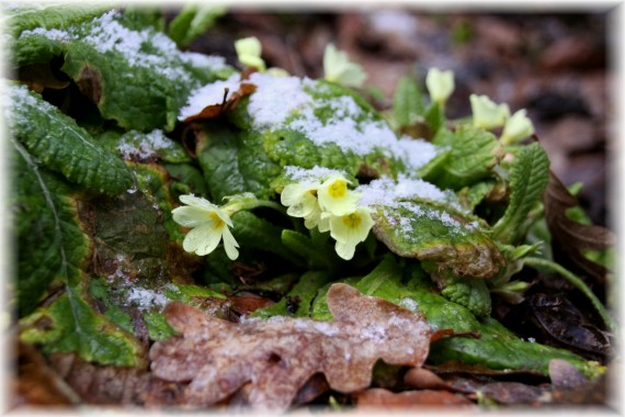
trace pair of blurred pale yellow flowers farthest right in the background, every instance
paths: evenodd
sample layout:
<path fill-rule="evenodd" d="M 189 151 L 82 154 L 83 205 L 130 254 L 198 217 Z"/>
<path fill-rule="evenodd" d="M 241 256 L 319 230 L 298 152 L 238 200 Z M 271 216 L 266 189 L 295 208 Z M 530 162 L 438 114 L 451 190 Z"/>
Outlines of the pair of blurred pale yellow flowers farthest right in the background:
<path fill-rule="evenodd" d="M 503 145 L 526 139 L 534 133 L 534 125 L 526 116 L 525 109 L 511 116 L 508 104 L 496 104 L 487 95 L 471 94 L 469 100 L 474 125 L 486 129 L 503 126 L 500 138 Z"/>

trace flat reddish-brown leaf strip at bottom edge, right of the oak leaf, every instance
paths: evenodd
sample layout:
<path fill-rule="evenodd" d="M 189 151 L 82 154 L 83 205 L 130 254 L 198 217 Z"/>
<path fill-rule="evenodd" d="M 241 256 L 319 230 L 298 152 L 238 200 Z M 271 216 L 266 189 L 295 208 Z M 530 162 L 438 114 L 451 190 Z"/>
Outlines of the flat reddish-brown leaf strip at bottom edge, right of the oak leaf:
<path fill-rule="evenodd" d="M 448 391 L 404 391 L 394 393 L 384 388 L 366 390 L 356 394 L 359 408 L 375 408 L 377 410 L 423 408 L 432 406 L 471 406 L 473 403 L 466 397 Z"/>

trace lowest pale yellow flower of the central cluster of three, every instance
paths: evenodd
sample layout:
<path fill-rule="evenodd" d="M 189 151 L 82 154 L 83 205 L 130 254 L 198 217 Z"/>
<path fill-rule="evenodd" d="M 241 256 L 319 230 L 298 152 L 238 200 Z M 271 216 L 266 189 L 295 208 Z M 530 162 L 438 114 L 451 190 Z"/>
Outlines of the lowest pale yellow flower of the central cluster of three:
<path fill-rule="evenodd" d="M 345 260 L 353 258 L 356 245 L 366 239 L 374 225 L 370 208 L 364 206 L 342 216 L 330 215 L 325 217 L 329 223 L 330 236 L 337 240 L 334 249 Z"/>

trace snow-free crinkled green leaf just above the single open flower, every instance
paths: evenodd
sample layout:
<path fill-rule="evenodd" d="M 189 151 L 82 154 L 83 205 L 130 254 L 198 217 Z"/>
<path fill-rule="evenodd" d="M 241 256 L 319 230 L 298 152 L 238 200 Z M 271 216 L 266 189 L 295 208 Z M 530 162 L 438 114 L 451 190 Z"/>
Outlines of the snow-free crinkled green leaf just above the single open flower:
<path fill-rule="evenodd" d="M 261 137 L 253 132 L 208 123 L 197 144 L 197 161 L 219 204 L 227 195 L 251 192 L 259 199 L 273 195 L 271 181 L 282 169 L 263 153 Z"/>

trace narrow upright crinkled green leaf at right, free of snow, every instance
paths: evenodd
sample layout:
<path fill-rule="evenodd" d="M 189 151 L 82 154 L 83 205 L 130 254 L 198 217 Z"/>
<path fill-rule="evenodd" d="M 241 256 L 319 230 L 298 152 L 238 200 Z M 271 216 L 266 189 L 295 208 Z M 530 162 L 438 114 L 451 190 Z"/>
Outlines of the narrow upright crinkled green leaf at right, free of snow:
<path fill-rule="evenodd" d="M 549 158 L 541 145 L 524 146 L 510 169 L 510 204 L 492 227 L 501 243 L 515 244 L 527 232 L 527 214 L 541 203 L 549 181 Z"/>

